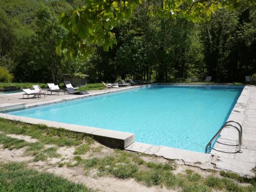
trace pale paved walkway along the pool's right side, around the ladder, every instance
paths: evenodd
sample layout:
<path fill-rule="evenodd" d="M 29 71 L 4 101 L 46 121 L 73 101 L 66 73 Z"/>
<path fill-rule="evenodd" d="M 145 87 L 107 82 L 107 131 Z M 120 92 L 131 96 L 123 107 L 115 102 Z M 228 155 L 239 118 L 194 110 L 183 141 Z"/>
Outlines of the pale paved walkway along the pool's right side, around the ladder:
<path fill-rule="evenodd" d="M 242 152 L 238 151 L 238 131 L 226 127 L 221 132 L 211 155 L 218 156 L 216 167 L 253 177 L 256 173 L 256 87 L 246 86 L 228 120 L 243 127 Z M 233 123 L 231 123 L 233 124 Z M 236 124 L 233 124 L 236 125 Z"/>

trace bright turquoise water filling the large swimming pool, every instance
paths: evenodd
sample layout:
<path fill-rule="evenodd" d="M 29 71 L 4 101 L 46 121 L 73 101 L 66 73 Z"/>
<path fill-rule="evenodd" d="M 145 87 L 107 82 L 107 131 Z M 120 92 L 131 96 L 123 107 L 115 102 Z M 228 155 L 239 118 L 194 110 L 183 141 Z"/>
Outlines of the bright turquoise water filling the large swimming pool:
<path fill-rule="evenodd" d="M 9 114 L 130 132 L 138 142 L 204 152 L 242 90 L 155 85 Z"/>

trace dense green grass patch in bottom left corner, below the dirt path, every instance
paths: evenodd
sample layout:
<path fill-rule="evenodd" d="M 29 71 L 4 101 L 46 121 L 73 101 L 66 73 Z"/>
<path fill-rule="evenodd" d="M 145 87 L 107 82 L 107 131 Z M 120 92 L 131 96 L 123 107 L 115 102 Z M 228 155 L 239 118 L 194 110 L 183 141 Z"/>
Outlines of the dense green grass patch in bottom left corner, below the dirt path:
<path fill-rule="evenodd" d="M 0 164 L 0 179 L 0 191 L 92 191 L 53 174 L 38 173 L 18 162 Z"/>

